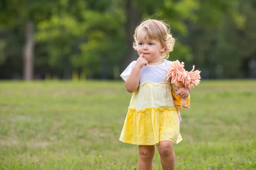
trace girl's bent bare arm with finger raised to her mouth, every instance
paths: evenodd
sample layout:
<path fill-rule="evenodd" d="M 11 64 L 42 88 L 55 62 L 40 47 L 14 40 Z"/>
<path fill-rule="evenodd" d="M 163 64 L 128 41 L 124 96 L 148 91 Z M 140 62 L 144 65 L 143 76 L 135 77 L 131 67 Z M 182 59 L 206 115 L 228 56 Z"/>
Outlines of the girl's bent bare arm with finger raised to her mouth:
<path fill-rule="evenodd" d="M 140 83 L 140 69 L 143 68 L 144 65 L 148 64 L 147 59 L 143 57 L 143 53 L 140 54 L 140 57 L 137 59 L 134 68 L 131 71 L 131 74 L 125 81 L 125 87 L 128 92 L 133 93 L 137 90 Z"/>

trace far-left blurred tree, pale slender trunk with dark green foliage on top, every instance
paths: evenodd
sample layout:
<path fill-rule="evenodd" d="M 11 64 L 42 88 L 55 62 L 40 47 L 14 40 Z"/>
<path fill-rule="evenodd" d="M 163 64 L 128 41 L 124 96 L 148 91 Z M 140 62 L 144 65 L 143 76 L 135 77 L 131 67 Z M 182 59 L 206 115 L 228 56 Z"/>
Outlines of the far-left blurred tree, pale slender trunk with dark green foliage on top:
<path fill-rule="evenodd" d="M 34 24 L 47 19 L 56 7 L 55 1 L 43 0 L 1 0 L 0 27 L 25 27 L 25 45 L 23 49 L 24 79 L 33 79 Z M 44 5 L 43 5 L 44 4 Z"/>

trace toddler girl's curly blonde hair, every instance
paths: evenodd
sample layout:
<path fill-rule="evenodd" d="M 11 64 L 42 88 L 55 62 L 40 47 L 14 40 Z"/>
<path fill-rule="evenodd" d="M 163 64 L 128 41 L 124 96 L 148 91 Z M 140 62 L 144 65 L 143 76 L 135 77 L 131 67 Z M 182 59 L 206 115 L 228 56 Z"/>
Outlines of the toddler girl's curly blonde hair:
<path fill-rule="evenodd" d="M 146 31 L 146 36 L 151 40 L 157 40 L 161 45 L 166 45 L 165 50 L 161 52 L 162 59 L 169 58 L 169 52 L 173 51 L 175 44 L 175 39 L 170 34 L 170 27 L 161 20 L 148 19 L 140 23 L 139 26 L 135 29 L 134 33 L 134 50 L 137 48 L 137 32 L 139 29 Z"/>

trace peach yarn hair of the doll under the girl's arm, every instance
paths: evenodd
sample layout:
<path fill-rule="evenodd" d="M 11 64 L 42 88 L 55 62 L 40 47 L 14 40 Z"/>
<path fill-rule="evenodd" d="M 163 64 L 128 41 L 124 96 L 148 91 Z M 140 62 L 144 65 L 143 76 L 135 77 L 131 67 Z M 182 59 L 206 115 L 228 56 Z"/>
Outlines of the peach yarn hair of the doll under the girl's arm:
<path fill-rule="evenodd" d="M 184 69 L 184 62 L 179 62 L 178 60 L 172 62 L 169 67 L 169 72 L 166 75 L 167 80 L 171 79 L 171 83 L 177 85 L 182 82 L 185 87 L 194 87 L 199 84 L 201 76 L 201 71 L 195 70 L 195 65 L 191 71 L 186 71 Z"/>

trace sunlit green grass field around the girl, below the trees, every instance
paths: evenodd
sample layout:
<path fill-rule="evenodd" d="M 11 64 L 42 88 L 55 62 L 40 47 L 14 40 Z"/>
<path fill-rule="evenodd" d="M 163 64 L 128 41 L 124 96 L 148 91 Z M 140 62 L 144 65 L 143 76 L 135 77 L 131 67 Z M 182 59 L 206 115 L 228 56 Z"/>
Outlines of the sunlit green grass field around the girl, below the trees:
<path fill-rule="evenodd" d="M 0 170 L 138 170 L 124 82 L 0 82 Z M 202 81 L 175 170 L 256 170 L 256 81 Z M 156 152 L 154 170 L 161 170 Z"/>

